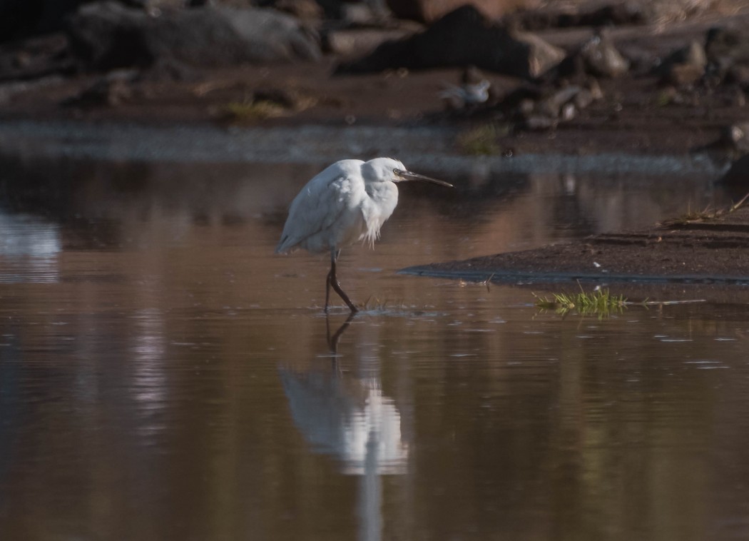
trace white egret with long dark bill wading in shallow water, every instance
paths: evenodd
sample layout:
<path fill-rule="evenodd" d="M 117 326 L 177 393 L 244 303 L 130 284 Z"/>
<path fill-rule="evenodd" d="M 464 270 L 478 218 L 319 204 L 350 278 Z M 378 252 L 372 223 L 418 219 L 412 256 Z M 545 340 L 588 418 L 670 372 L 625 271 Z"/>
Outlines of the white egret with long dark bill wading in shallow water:
<path fill-rule="evenodd" d="M 315 175 L 291 202 L 276 253 L 296 248 L 309 252 L 330 250 L 330 272 L 325 282 L 325 311 L 330 288 L 351 312 L 357 307 L 336 278 L 341 248 L 366 240 L 374 247 L 380 227 L 398 205 L 396 182 L 422 181 L 452 187 L 443 181 L 407 171 L 392 158 L 341 160 Z"/>

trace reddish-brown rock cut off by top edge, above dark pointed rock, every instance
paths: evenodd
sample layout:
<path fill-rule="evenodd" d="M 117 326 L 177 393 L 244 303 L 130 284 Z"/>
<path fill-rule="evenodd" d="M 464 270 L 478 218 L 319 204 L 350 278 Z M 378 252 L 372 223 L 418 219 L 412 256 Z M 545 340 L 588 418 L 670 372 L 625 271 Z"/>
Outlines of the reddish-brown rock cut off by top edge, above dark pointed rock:
<path fill-rule="evenodd" d="M 537 7 L 534 0 L 387 0 L 392 13 L 400 19 L 434 22 L 458 7 L 470 4 L 489 19 L 518 10 L 520 7 Z"/>

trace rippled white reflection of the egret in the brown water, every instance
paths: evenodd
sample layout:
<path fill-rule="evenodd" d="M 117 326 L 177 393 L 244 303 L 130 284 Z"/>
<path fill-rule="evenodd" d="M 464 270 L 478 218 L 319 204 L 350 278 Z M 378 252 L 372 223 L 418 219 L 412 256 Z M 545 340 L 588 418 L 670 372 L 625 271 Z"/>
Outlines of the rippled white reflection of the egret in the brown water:
<path fill-rule="evenodd" d="M 343 372 L 338 342 L 354 314 L 330 333 L 332 362 L 303 372 L 279 369 L 291 417 L 315 453 L 335 456 L 342 474 L 361 476 L 360 540 L 378 540 L 382 532 L 382 475 L 407 472 L 408 445 L 401 438 L 401 414 L 383 395 L 377 369 L 366 378 Z"/>

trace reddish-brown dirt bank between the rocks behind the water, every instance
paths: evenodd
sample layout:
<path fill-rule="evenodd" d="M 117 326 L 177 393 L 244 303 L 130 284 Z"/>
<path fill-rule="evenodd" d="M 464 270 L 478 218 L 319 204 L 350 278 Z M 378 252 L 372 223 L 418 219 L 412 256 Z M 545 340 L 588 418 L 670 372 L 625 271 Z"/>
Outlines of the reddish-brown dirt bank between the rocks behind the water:
<path fill-rule="evenodd" d="M 714 25 L 735 25 L 749 15 L 705 15 L 664 27 L 640 25 L 611 28 L 610 37 L 625 55 L 644 61 L 662 57 L 690 40 L 703 42 Z M 592 36 L 592 28 L 553 29 L 539 36 L 573 49 Z M 494 121 L 491 115 L 448 114 L 439 93 L 446 83 L 457 83 L 460 69 L 395 70 L 366 75 L 334 75 L 341 58 L 328 55 L 318 63 L 245 66 L 195 71 L 178 79 L 146 74 L 108 103 L 76 99 L 101 75 L 0 85 L 0 120 L 49 118 L 76 121 L 126 121 L 169 127 L 175 123 L 245 125 L 376 124 L 430 125 L 469 131 Z M 484 73 L 500 94 L 521 81 Z M 497 152 L 595 154 L 626 151 L 643 154 L 682 154 L 715 142 L 721 130 L 747 118 L 745 100 L 735 89 L 703 95 L 690 94 L 683 103 L 664 104 L 664 89 L 655 76 L 637 69 L 617 79 L 599 79 L 603 99 L 595 101 L 555 130 L 497 133 Z M 232 115 L 257 91 L 291 94 L 294 106 L 270 118 Z M 109 103 L 112 102 L 112 103 Z"/>

